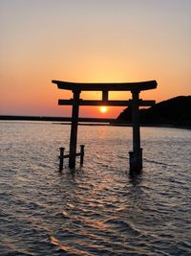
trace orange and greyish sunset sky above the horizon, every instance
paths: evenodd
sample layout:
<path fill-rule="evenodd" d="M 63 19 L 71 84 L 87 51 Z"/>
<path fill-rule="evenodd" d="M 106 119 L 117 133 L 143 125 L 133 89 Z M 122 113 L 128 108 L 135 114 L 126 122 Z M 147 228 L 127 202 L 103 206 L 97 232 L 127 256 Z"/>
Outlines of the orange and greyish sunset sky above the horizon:
<path fill-rule="evenodd" d="M 156 80 L 140 98 L 191 95 L 190 0 L 0 0 L 0 34 L 0 115 L 70 116 L 57 100 L 72 94 L 52 80 Z M 115 118 L 123 108 L 80 106 L 80 116 Z"/>

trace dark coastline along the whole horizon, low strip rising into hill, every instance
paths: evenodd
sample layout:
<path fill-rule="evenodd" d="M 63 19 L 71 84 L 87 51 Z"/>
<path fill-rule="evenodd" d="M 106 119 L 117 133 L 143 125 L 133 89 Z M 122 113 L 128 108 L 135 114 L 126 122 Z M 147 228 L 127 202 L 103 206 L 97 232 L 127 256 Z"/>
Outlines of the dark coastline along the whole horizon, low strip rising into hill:
<path fill-rule="evenodd" d="M 139 111 L 140 125 L 152 127 L 191 128 L 191 96 L 178 96 Z M 71 122 L 71 117 L 0 115 L 0 120 Z M 117 117 L 79 118 L 79 122 L 131 126 L 132 109 L 126 107 Z"/>

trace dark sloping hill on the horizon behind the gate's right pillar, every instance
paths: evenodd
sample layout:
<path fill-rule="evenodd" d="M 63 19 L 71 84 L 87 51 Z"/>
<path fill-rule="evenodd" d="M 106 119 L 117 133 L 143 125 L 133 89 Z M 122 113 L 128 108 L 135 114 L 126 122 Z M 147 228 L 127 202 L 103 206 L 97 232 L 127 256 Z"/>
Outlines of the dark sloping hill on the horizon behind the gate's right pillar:
<path fill-rule="evenodd" d="M 191 96 L 178 96 L 150 108 L 140 109 L 139 113 L 141 125 L 191 128 Z M 115 123 L 132 123 L 132 109 L 130 106 L 118 115 Z"/>

